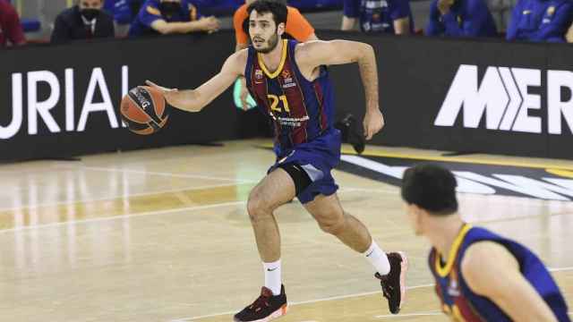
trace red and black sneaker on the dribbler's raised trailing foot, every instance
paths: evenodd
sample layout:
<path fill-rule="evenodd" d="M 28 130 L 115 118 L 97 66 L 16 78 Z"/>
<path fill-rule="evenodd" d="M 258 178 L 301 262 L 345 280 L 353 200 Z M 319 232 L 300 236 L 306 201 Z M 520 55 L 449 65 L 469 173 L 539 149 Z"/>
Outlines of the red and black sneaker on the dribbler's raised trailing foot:
<path fill-rule="evenodd" d="M 390 272 L 388 275 L 376 273 L 374 276 L 380 280 L 382 294 L 388 300 L 388 307 L 392 314 L 398 314 L 406 300 L 406 270 L 408 260 L 403 252 L 388 253 Z"/>

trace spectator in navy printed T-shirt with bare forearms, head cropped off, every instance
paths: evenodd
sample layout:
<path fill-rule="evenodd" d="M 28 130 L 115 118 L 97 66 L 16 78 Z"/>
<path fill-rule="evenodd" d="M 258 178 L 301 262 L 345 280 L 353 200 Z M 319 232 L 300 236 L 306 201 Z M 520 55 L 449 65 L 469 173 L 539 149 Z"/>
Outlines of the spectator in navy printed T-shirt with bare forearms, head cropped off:
<path fill-rule="evenodd" d="M 414 32 L 409 0 L 345 0 L 341 29 L 353 30 L 357 20 L 365 32 Z"/>

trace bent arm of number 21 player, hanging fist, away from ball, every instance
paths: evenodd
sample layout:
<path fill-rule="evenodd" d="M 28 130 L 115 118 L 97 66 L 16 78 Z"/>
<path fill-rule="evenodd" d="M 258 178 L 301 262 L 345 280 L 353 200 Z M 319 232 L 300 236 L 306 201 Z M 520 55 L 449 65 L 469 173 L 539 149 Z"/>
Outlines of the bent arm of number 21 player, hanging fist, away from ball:
<path fill-rule="evenodd" d="M 378 101 L 378 68 L 372 46 L 350 40 L 310 41 L 296 47 L 295 58 L 304 75 L 311 75 L 321 65 L 358 63 L 366 96 L 364 136 L 371 140 L 381 131 L 384 116 Z"/>

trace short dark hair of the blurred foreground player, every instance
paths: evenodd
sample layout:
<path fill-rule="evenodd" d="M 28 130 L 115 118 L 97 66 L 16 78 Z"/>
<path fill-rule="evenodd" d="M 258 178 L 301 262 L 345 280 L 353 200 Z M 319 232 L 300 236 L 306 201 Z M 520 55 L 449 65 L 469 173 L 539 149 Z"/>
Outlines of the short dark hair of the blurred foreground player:
<path fill-rule="evenodd" d="M 402 199 L 427 210 L 435 216 L 458 211 L 456 177 L 438 165 L 415 165 L 406 170 L 402 179 Z"/>

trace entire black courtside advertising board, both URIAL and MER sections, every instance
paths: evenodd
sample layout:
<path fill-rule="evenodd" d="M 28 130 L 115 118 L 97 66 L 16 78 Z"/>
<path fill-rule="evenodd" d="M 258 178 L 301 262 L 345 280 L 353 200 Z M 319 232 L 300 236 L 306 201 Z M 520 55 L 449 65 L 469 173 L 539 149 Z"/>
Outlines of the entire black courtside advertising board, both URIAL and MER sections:
<path fill-rule="evenodd" d="M 535 157 L 573 157 L 573 47 L 496 39 L 393 37 L 339 31 L 372 44 L 386 127 L 374 144 Z M 232 53 L 230 31 L 0 51 L 0 160 L 231 140 L 265 133 L 230 91 L 198 114 L 175 109 L 157 134 L 122 128 L 119 102 L 150 79 L 179 89 L 208 80 Z M 330 68 L 338 117 L 362 118 L 355 64 Z"/>

